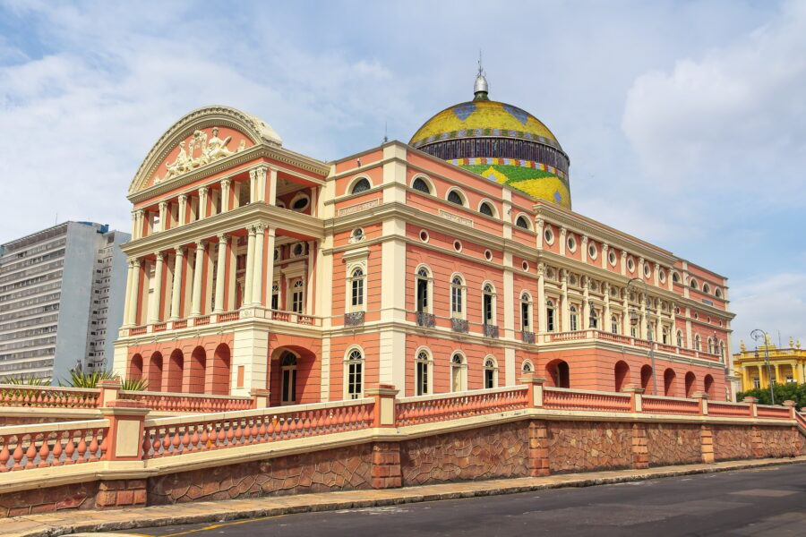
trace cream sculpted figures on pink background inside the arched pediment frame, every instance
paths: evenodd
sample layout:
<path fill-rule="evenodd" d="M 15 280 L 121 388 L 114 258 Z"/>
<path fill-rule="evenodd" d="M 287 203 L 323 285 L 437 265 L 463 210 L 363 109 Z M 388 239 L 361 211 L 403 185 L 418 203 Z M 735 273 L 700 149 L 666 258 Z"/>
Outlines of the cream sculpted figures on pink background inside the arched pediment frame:
<path fill-rule="evenodd" d="M 235 138 L 238 138 L 237 142 L 234 141 Z M 223 127 L 197 129 L 185 140 L 180 141 L 165 161 L 157 166 L 151 184 L 164 183 L 201 166 L 240 153 L 252 145 L 252 141 L 233 129 Z"/>

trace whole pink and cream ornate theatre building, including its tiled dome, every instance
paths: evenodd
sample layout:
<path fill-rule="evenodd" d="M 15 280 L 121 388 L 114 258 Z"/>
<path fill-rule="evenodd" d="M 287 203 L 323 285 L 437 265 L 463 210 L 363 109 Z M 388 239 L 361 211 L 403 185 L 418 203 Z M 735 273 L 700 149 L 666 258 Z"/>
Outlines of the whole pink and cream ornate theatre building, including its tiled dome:
<path fill-rule="evenodd" d="M 129 190 L 116 371 L 271 405 L 514 385 L 731 398 L 725 277 L 570 209 L 534 116 L 450 107 L 334 162 L 228 107 L 185 115 Z"/>

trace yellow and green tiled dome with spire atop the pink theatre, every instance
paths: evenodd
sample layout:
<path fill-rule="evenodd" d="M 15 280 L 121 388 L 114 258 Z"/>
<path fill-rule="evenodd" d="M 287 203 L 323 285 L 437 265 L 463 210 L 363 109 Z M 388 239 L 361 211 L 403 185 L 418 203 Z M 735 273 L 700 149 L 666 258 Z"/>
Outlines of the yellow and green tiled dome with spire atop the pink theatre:
<path fill-rule="evenodd" d="M 481 72 L 476 78 L 476 98 L 434 115 L 409 145 L 570 209 L 568 156 L 560 142 L 534 115 L 489 100 Z"/>

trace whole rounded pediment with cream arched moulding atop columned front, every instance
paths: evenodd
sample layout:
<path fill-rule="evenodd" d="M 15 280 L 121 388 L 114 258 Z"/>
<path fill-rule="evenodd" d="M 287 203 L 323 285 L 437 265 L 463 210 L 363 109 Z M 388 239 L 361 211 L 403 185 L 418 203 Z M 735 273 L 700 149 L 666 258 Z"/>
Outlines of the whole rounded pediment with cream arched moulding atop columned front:
<path fill-rule="evenodd" d="M 262 119 L 230 107 L 194 110 L 163 134 L 129 185 L 129 195 L 167 183 L 256 145 L 280 147 L 277 132 Z"/>

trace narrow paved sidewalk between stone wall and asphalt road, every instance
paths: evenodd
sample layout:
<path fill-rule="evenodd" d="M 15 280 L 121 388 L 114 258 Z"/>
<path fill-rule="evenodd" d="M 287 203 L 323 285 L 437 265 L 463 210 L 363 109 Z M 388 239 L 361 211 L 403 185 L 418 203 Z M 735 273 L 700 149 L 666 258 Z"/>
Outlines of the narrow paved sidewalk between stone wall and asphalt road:
<path fill-rule="evenodd" d="M 132 507 L 108 511 L 61 511 L 43 515 L 16 516 L 4 519 L 0 534 L 14 537 L 39 537 L 68 533 L 136 530 L 172 524 L 222 522 L 238 518 L 279 516 L 292 513 L 331 511 L 359 507 L 459 499 L 493 494 L 511 494 L 528 490 L 587 487 L 618 482 L 632 482 L 658 477 L 692 473 L 725 472 L 759 466 L 787 465 L 806 462 L 806 456 L 787 459 L 730 461 L 710 465 L 662 466 L 647 470 L 615 470 L 611 472 L 565 473 L 548 477 L 525 477 L 481 482 L 441 483 L 419 487 L 386 490 L 349 490 L 265 497 L 201 501 L 170 506 Z M 134 533 L 134 532 L 133 532 Z M 96 536 L 98 537 L 98 536 Z M 118 534 L 119 537 L 119 534 Z"/>

